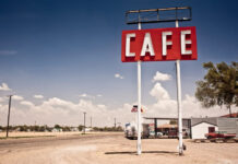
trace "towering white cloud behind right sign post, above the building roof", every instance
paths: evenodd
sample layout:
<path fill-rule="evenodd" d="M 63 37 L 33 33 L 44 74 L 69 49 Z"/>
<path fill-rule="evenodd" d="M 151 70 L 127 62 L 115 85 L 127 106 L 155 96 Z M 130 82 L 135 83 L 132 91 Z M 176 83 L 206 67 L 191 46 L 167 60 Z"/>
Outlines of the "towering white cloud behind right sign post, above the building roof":
<path fill-rule="evenodd" d="M 168 92 L 160 83 L 156 83 L 150 94 L 156 99 L 155 103 L 147 105 L 147 117 L 177 117 L 177 99 L 170 98 Z M 183 117 L 216 117 L 228 113 L 225 107 L 214 106 L 212 108 L 203 108 L 201 103 L 194 96 L 186 94 L 182 99 Z M 237 107 L 236 107 L 237 108 Z"/>

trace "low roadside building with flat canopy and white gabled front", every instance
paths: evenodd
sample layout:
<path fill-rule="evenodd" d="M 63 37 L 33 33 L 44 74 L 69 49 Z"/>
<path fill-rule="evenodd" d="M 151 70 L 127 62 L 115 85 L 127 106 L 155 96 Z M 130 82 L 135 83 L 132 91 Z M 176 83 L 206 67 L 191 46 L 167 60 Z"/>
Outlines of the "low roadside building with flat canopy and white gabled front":
<path fill-rule="evenodd" d="M 205 139 L 205 133 L 214 131 L 225 131 L 227 133 L 236 133 L 238 137 L 238 117 L 229 117 L 225 115 L 221 117 L 205 117 L 205 118 L 182 118 L 182 131 L 191 139 Z M 233 114 L 231 116 L 237 116 Z M 144 117 L 145 119 L 154 120 L 154 131 L 168 134 L 178 133 L 178 127 L 174 125 L 157 126 L 157 120 L 177 120 L 177 118 L 165 117 Z"/>

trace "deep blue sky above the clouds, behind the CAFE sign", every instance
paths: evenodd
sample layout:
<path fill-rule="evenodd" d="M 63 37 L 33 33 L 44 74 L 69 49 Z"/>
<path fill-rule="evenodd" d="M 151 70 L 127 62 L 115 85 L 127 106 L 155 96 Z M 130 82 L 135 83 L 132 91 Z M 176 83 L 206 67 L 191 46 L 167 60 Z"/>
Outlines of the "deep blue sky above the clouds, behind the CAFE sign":
<path fill-rule="evenodd" d="M 136 63 L 120 61 L 121 31 L 136 25 L 124 23 L 124 12 L 138 9 L 192 7 L 197 26 L 197 61 L 181 62 L 182 95 L 194 95 L 195 81 L 205 73 L 202 62 L 237 61 L 238 2 L 234 0 L 0 0 L 0 84 L 25 99 L 39 103 L 59 97 L 78 102 L 79 95 L 110 108 L 136 101 Z M 175 26 L 174 23 L 142 25 L 142 28 Z M 150 104 L 156 71 L 172 75 L 162 82 L 176 98 L 175 63 L 142 65 L 142 101 Z M 115 78 L 119 73 L 123 79 Z M 96 96 L 100 94 L 102 96 Z"/>

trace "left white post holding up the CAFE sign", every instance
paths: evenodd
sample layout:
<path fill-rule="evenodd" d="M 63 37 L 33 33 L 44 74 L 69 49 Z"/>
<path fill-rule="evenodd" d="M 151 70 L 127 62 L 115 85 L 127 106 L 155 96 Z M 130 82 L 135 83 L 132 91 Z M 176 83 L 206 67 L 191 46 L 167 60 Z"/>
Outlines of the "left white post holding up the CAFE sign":
<path fill-rule="evenodd" d="M 138 24 L 141 30 L 141 23 Z M 138 155 L 141 154 L 141 61 L 138 61 Z"/>

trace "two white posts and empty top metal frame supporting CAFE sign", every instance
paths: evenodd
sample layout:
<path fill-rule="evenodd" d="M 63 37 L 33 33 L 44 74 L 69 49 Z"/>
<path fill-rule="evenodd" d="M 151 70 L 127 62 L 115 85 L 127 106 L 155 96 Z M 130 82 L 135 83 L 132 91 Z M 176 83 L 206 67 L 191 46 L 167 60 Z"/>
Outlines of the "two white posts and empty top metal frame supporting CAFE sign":
<path fill-rule="evenodd" d="M 178 11 L 188 11 L 189 14 L 187 16 L 180 14 Z M 175 11 L 174 17 L 160 17 L 163 11 Z M 156 12 L 156 19 L 151 19 L 144 15 L 146 12 Z M 138 14 L 138 19 L 130 20 L 131 14 Z M 159 23 L 159 22 L 175 22 L 176 27 L 179 27 L 179 21 L 191 21 L 191 8 L 190 7 L 176 7 L 176 8 L 166 8 L 166 9 L 147 9 L 147 10 L 131 10 L 126 12 L 126 22 L 127 24 L 138 24 L 139 31 L 141 30 L 142 23 Z M 194 31 L 193 31 L 194 32 Z M 190 33 L 191 34 L 191 33 Z M 197 39 L 197 38 L 193 38 Z M 197 44 L 197 40 L 194 40 Z M 123 47 L 124 48 L 124 47 Z M 182 54 L 181 55 L 187 55 Z M 126 55 L 127 56 L 127 55 Z M 178 109 L 178 138 L 179 138 L 179 155 L 183 155 L 183 143 L 182 143 L 182 107 L 181 107 L 181 77 L 180 77 L 180 60 L 197 60 L 197 49 L 195 56 L 192 58 L 177 58 L 176 60 L 176 77 L 177 77 L 177 109 Z M 122 55 L 123 57 L 123 55 Z M 129 56 L 130 57 L 130 56 Z M 138 62 L 138 155 L 142 153 L 141 148 L 141 61 L 162 61 L 163 59 L 151 60 L 151 59 L 136 59 L 136 60 L 128 60 L 129 62 Z M 172 59 L 170 59 L 172 60 Z M 122 58 L 122 62 L 127 62 L 124 58 Z M 155 127 L 156 128 L 156 127 Z"/>

